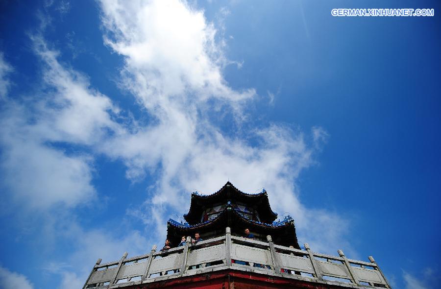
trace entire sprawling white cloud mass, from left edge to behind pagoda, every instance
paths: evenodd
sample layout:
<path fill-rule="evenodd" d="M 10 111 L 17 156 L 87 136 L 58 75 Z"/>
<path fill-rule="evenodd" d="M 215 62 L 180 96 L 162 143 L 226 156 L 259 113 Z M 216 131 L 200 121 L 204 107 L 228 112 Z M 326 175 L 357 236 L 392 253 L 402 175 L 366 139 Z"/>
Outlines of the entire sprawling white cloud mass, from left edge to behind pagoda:
<path fill-rule="evenodd" d="M 121 124 L 112 101 L 90 88 L 84 75 L 60 63 L 42 37 L 34 36 L 45 89 L 20 103 L 7 100 L 0 118 L 6 127 L 0 139 L 3 184 L 14 199 L 32 208 L 46 210 L 60 203 L 74 207 L 96 194 L 94 156 L 121 159 L 129 179 L 147 173 L 157 177 L 147 191 L 147 211 L 140 208 L 143 213 L 138 214 L 149 228 L 156 227 L 151 234 L 155 239 L 137 231 L 118 239 L 103 230 L 66 224 L 55 238 L 74 240 L 65 255 L 75 267 L 47 267 L 61 276 L 61 286 L 82 285 L 97 258 L 117 260 L 128 248 L 134 255 L 148 252 L 152 241 L 166 232 L 167 212 L 184 213 L 189 192 L 215 192 L 228 178 L 245 192 L 265 187 L 274 210 L 292 214 L 299 236 L 305 236 L 302 241 L 313 243 L 314 250 L 336 250 L 347 221 L 305 208 L 296 187 L 300 172 L 314 164 L 324 131 L 313 130 L 312 144 L 301 132 L 279 124 L 226 134 L 217 125 L 223 119 L 215 118 L 222 110 L 246 116 L 244 104 L 255 92 L 233 90 L 223 79 L 222 67 L 228 63 L 223 44 L 215 41 L 216 29 L 202 11 L 179 1 L 105 0 L 101 7 L 106 44 L 125 58 L 123 88 L 154 120 L 145 126 Z M 63 144 L 78 149 L 68 152 Z M 53 221 L 54 216 L 48 218 Z M 57 266 L 62 269 L 54 270 Z"/>

